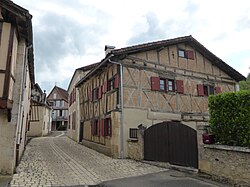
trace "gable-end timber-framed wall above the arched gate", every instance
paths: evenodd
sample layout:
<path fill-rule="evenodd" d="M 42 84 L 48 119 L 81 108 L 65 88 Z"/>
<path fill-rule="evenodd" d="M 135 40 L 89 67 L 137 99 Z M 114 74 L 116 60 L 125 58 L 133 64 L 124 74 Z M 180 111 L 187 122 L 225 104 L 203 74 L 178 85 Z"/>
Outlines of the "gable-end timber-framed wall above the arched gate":
<path fill-rule="evenodd" d="M 194 59 L 178 57 L 178 49 L 191 50 Z M 236 82 L 192 47 L 179 44 L 161 51 L 147 51 L 128 56 L 123 64 L 124 153 L 127 152 L 129 128 L 150 127 L 162 121 L 177 120 L 197 130 L 198 145 L 208 125 L 208 97 L 198 96 L 197 85 L 235 91 Z M 184 93 L 153 91 L 151 77 L 183 81 Z M 175 85 L 176 86 L 176 85 Z"/>

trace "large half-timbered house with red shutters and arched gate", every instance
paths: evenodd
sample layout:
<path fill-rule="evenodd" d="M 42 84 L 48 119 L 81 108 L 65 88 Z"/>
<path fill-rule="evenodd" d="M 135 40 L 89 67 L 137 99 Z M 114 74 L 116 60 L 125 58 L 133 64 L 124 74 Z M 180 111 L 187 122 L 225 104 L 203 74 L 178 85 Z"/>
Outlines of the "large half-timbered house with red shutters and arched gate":
<path fill-rule="evenodd" d="M 208 96 L 237 91 L 243 79 L 192 36 L 109 49 L 77 84 L 83 144 L 124 158 L 145 127 L 144 159 L 186 166 L 185 157 L 198 168 Z"/>

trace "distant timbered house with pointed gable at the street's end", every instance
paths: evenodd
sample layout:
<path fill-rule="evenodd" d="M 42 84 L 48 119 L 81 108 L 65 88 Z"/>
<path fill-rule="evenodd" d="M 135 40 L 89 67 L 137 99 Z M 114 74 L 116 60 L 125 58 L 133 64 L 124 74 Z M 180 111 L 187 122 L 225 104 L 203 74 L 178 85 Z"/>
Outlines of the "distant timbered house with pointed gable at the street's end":
<path fill-rule="evenodd" d="M 51 130 L 66 130 L 68 125 L 68 92 L 55 86 L 47 97 L 52 107 Z"/>

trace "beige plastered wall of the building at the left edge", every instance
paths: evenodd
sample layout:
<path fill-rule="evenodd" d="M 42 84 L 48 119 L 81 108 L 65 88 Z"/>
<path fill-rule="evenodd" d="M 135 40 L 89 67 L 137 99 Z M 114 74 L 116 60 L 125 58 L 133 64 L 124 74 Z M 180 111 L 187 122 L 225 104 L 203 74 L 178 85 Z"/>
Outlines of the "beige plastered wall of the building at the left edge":
<path fill-rule="evenodd" d="M 28 123 L 29 109 L 30 109 L 30 92 L 31 92 L 31 81 L 29 77 L 29 67 L 25 62 L 25 40 L 18 42 L 17 50 L 13 50 L 16 54 L 16 65 L 11 70 L 15 72 L 15 83 L 13 89 L 9 90 L 13 93 L 9 95 L 9 98 L 13 98 L 13 107 L 11 110 L 11 121 L 7 120 L 7 111 L 1 110 L 0 113 L 0 172 L 5 174 L 12 174 L 16 166 L 16 158 L 20 160 L 24 146 L 26 143 L 26 126 Z M 24 75 L 26 79 L 24 80 Z M 24 84 L 22 82 L 24 81 Z M 10 83 L 10 87 L 12 84 Z M 23 91 L 23 95 L 22 95 Z M 23 96 L 23 97 L 21 97 Z M 21 102 L 22 100 L 22 102 Z M 18 139 L 20 141 L 18 141 Z M 3 149 L 2 149 L 3 148 Z M 18 151 L 16 150 L 18 149 Z"/>

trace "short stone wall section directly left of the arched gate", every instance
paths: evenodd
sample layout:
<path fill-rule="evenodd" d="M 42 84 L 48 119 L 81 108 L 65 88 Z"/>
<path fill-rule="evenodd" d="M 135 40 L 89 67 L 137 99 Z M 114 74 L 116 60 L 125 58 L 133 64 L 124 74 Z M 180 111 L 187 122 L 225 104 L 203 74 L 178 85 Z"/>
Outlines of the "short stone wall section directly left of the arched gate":
<path fill-rule="evenodd" d="M 128 157 L 134 160 L 144 159 L 143 130 L 137 131 L 137 139 L 128 139 Z"/>

